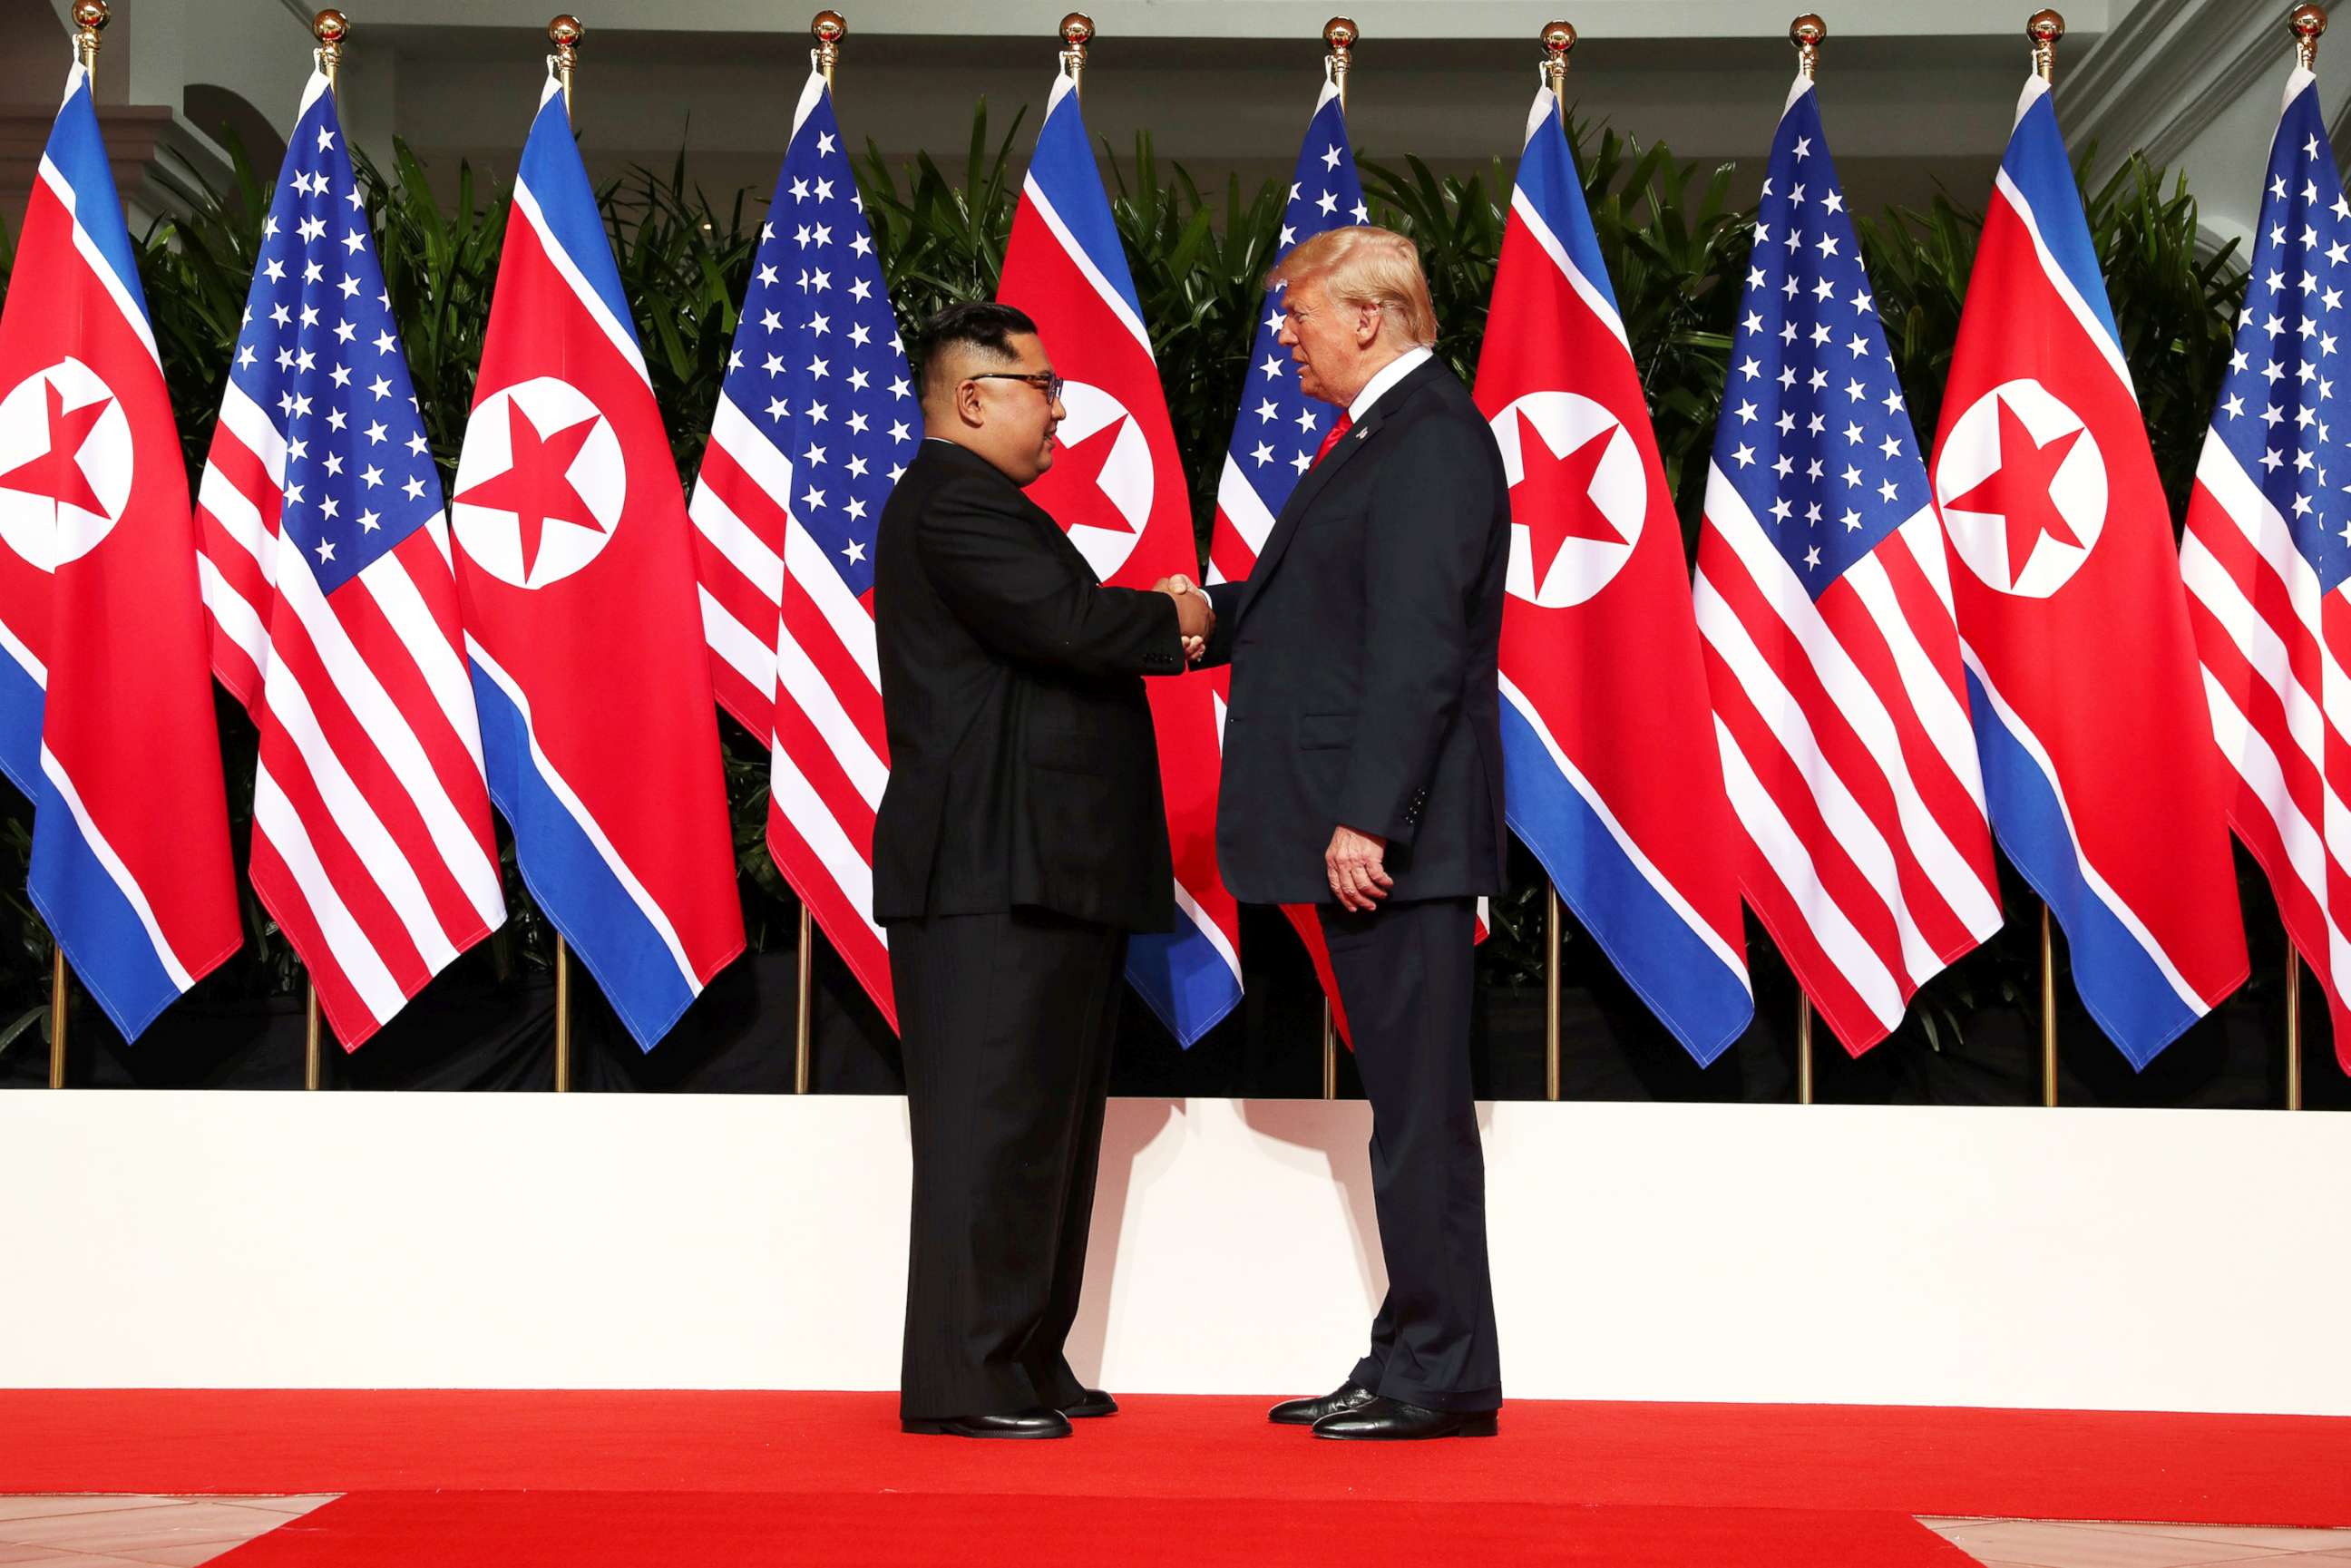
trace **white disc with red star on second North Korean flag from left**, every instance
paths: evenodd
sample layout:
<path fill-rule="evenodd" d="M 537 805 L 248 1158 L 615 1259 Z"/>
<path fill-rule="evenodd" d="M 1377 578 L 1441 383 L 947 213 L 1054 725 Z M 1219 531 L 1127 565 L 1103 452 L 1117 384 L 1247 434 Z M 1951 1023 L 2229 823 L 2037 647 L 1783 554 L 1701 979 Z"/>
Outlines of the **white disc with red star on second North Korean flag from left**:
<path fill-rule="evenodd" d="M 621 437 L 569 381 L 498 388 L 465 421 L 449 527 L 501 583 L 545 588 L 583 569 L 611 543 L 625 503 Z"/>

